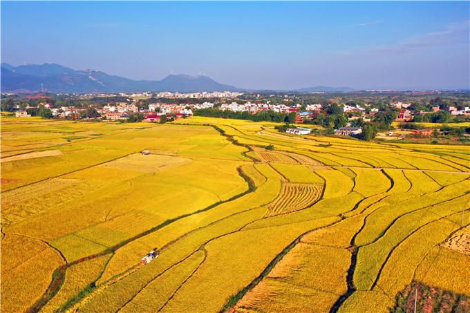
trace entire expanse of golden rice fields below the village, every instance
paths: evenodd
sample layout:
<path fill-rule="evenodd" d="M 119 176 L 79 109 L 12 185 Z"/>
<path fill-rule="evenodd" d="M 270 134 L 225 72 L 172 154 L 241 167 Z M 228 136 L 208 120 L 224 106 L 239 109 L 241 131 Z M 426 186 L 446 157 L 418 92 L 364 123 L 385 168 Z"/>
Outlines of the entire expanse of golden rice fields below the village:
<path fill-rule="evenodd" d="M 274 126 L 1 117 L 1 312 L 470 307 L 469 146 Z"/>

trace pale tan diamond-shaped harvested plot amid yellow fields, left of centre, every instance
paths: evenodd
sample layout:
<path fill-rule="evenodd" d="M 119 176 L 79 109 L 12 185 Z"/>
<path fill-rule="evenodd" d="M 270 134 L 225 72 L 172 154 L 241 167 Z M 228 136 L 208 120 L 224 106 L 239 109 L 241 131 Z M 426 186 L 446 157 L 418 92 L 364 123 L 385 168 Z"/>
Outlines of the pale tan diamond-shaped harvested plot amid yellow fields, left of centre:
<path fill-rule="evenodd" d="M 135 153 L 128 155 L 125 158 L 107 162 L 101 166 L 110 167 L 112 169 L 125 169 L 128 171 L 153 173 L 170 167 L 178 167 L 189 162 L 191 162 L 191 159 L 189 158 L 179 158 L 158 154 L 142 155 L 140 153 Z"/>

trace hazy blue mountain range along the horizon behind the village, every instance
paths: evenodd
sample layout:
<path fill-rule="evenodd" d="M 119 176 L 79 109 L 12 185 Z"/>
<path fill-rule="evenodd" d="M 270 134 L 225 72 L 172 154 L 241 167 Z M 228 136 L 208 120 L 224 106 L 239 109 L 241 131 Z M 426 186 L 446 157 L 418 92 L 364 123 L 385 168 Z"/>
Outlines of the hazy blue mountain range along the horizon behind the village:
<path fill-rule="evenodd" d="M 1 64 L 1 91 L 3 93 L 118 93 L 137 91 L 247 91 L 220 84 L 207 76 L 168 75 L 161 80 L 134 80 L 109 75 L 99 70 L 73 70 L 59 64 L 28 64 L 12 66 Z M 348 87 L 317 86 L 295 91 L 311 92 L 348 92 Z"/>

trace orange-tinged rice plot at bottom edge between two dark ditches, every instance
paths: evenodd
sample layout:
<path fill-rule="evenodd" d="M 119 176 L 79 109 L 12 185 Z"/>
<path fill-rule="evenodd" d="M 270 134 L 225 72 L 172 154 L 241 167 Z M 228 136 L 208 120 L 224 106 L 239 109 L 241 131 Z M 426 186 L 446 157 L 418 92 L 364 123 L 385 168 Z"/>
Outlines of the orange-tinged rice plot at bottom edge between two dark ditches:
<path fill-rule="evenodd" d="M 235 311 L 309 312 L 314 307 L 326 312 L 346 292 L 349 260 L 346 249 L 299 243 L 238 301 Z"/>

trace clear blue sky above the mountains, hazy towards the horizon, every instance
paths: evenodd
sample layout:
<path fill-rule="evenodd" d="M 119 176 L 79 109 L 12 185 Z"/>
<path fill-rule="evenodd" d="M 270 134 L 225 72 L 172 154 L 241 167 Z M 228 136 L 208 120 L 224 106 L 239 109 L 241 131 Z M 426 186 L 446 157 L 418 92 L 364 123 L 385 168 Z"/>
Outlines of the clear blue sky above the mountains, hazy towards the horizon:
<path fill-rule="evenodd" d="M 1 61 L 240 88 L 470 88 L 469 12 L 468 1 L 1 1 Z"/>

